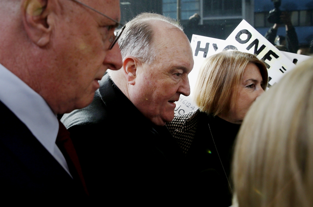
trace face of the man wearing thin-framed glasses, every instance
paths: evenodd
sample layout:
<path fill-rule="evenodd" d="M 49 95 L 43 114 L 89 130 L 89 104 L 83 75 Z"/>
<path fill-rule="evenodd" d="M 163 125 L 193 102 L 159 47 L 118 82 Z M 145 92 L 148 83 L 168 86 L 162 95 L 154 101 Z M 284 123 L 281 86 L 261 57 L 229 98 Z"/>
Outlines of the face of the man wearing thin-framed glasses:
<path fill-rule="evenodd" d="M 120 21 L 118 0 L 82 2 Z M 55 64 L 60 69 L 55 80 L 59 91 L 62 91 L 61 101 L 73 106 L 66 109 L 71 111 L 92 101 L 95 90 L 99 88 L 98 80 L 107 69 L 121 68 L 122 59 L 117 43 L 109 50 L 115 22 L 77 2 L 68 0 L 64 3 L 70 9 L 64 9 L 67 13 L 54 34 L 57 41 L 53 47 L 58 54 Z"/>

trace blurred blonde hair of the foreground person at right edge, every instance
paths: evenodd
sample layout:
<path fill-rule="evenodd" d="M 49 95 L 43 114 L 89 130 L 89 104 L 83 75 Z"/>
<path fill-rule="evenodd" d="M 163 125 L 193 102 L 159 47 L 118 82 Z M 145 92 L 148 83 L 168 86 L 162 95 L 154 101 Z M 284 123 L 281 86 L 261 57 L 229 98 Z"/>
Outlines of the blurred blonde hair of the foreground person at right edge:
<path fill-rule="evenodd" d="M 313 59 L 249 109 L 233 157 L 234 206 L 313 206 Z"/>

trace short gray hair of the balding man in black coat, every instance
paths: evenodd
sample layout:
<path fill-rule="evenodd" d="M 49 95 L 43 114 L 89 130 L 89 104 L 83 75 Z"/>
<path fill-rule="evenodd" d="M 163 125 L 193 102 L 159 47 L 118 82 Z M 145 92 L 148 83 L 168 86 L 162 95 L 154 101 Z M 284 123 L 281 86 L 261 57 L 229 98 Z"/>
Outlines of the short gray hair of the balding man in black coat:
<path fill-rule="evenodd" d="M 126 23 L 125 30 L 118 41 L 122 58 L 131 55 L 147 64 L 151 64 L 155 60 L 157 55 L 152 46 L 154 32 L 149 20 L 164 21 L 183 31 L 182 26 L 170 17 L 154 13 L 141 13 Z"/>

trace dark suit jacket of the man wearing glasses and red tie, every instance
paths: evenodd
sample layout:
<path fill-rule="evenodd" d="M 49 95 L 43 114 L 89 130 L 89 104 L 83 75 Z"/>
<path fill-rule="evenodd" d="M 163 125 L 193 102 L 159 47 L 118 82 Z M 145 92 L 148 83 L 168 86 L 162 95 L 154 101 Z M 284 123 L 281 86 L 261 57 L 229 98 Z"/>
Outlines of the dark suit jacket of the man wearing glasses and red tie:
<path fill-rule="evenodd" d="M 83 198 L 73 179 L 0 102 L 0 203 L 49 205 Z"/>

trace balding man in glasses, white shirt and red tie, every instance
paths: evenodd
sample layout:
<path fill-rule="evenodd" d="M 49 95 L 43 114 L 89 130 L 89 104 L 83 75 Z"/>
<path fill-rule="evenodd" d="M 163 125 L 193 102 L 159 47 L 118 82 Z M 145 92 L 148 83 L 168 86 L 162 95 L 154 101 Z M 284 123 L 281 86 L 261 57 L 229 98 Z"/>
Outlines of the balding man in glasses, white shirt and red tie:
<path fill-rule="evenodd" d="M 82 1 L 0 1 L 1 204 L 88 195 L 56 114 L 90 104 L 98 80 L 122 59 L 114 45 L 119 1 Z"/>

